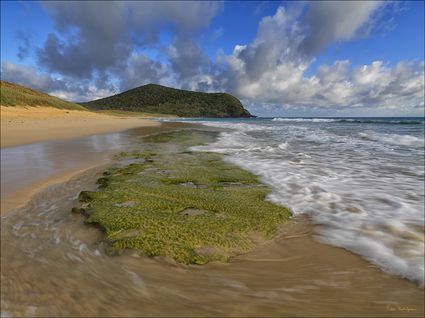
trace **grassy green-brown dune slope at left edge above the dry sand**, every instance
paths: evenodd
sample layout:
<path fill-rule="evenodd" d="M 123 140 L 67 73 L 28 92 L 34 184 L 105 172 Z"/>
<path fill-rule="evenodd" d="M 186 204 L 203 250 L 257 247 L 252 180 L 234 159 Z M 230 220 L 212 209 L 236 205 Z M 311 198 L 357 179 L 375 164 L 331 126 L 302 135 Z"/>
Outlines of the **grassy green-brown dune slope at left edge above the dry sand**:
<path fill-rule="evenodd" d="M 1 106 L 48 106 L 61 109 L 86 110 L 81 105 L 66 102 L 60 98 L 36 90 L 1 81 Z"/>

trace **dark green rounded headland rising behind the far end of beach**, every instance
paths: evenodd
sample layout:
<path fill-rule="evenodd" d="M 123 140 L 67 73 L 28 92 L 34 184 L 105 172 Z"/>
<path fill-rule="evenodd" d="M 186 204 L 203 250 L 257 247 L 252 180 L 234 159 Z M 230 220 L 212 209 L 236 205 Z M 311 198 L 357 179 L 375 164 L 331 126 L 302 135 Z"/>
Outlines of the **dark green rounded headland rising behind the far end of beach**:
<path fill-rule="evenodd" d="M 181 117 L 251 117 L 241 102 L 226 93 L 200 93 L 148 84 L 81 105 L 90 109 L 128 110 Z"/>

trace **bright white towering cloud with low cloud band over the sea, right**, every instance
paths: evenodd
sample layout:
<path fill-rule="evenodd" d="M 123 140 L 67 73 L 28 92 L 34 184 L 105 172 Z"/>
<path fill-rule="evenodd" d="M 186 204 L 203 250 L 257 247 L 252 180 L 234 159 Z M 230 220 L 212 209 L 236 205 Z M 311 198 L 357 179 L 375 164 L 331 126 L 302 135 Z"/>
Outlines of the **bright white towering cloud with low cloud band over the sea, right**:
<path fill-rule="evenodd" d="M 423 61 L 399 62 L 394 67 L 382 61 L 355 67 L 348 60 L 336 61 L 306 76 L 317 49 L 355 37 L 379 4 L 315 2 L 311 6 L 303 18 L 280 7 L 274 16 L 263 18 L 252 43 L 236 46 L 226 57 L 231 87 L 238 96 L 284 106 L 423 107 Z M 350 13 L 344 15 L 344 9 Z M 327 22 L 319 27 L 318 21 Z"/>

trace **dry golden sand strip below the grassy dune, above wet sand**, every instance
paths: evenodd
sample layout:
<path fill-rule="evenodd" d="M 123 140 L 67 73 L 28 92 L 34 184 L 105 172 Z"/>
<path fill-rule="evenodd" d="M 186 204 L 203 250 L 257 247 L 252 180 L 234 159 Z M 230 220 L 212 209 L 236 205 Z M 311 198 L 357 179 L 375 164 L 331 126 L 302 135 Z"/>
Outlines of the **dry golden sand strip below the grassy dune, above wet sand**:
<path fill-rule="evenodd" d="M 119 116 L 53 107 L 1 106 L 1 147 L 158 126 L 147 117 Z"/>

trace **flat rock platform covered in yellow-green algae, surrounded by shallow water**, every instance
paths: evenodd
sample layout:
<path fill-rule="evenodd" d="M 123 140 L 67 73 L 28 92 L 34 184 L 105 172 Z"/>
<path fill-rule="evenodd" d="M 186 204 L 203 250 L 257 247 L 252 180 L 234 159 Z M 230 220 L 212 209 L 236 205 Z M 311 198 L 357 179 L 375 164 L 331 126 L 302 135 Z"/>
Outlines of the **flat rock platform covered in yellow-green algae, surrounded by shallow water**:
<path fill-rule="evenodd" d="M 265 201 L 269 188 L 218 154 L 190 151 L 214 133 L 184 130 L 145 137 L 83 191 L 74 208 L 105 230 L 114 250 L 137 249 L 185 264 L 227 261 L 273 237 L 290 211 Z"/>

